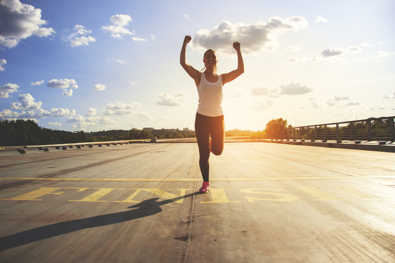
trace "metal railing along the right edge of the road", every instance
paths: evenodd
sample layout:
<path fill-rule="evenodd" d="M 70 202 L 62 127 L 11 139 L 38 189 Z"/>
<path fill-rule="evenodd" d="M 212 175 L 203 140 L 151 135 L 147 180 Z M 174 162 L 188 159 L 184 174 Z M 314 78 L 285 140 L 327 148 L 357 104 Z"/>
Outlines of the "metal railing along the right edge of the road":
<path fill-rule="evenodd" d="M 395 116 L 287 128 L 288 139 L 395 141 Z"/>

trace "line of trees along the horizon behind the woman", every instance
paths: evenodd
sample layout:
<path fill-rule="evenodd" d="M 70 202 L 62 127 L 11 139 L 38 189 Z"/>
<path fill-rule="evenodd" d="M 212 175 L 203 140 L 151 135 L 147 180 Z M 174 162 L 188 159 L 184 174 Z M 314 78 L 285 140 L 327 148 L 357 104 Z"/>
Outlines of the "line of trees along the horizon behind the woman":
<path fill-rule="evenodd" d="M 289 125 L 288 127 L 292 127 Z M 266 124 L 263 131 L 251 132 L 240 131 L 235 129 L 227 131 L 226 136 L 250 136 L 251 139 L 266 139 L 266 138 L 286 138 L 287 134 L 287 120 L 282 118 L 272 119 Z M 159 132 L 160 131 L 160 132 Z M 154 130 L 152 134 L 150 131 L 144 129 L 132 128 L 129 131 L 111 130 L 100 131 L 93 134 L 86 134 L 84 131 L 58 131 L 47 128 L 41 128 L 33 120 L 5 120 L 0 121 L 0 146 L 24 146 L 24 145 L 48 145 L 48 144 L 74 144 L 85 142 L 108 142 L 120 140 L 145 140 L 152 136 L 158 139 L 179 139 L 179 138 L 195 138 L 194 131 L 186 132 L 166 132 L 164 135 L 157 133 L 164 133 L 161 130 Z M 232 133 L 230 133 L 232 132 Z"/>

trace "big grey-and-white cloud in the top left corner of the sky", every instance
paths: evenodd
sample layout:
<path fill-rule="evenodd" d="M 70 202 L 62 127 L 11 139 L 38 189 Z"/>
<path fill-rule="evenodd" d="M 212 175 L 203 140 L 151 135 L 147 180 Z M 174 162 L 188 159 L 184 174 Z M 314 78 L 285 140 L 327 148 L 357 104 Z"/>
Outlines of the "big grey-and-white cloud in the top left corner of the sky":
<path fill-rule="evenodd" d="M 15 47 L 21 39 L 31 35 L 47 37 L 56 33 L 52 28 L 40 28 L 47 24 L 47 21 L 41 19 L 41 9 L 34 9 L 19 0 L 0 1 L 0 17 L 0 45 L 3 47 Z"/>

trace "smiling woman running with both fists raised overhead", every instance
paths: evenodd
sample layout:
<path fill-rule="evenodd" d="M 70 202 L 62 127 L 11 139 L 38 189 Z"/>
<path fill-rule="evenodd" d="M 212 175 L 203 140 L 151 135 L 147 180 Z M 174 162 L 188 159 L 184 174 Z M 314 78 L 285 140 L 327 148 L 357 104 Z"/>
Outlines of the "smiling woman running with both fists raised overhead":
<path fill-rule="evenodd" d="M 209 157 L 210 153 L 221 155 L 225 144 L 225 122 L 222 110 L 222 87 L 244 73 L 244 62 L 241 56 L 240 43 L 233 43 L 237 52 L 237 69 L 229 73 L 218 75 L 217 53 L 209 49 L 203 55 L 204 68 L 201 71 L 194 69 L 186 62 L 186 44 L 192 40 L 186 35 L 181 48 L 180 64 L 186 73 L 195 80 L 198 87 L 199 104 L 195 118 L 195 132 L 199 147 L 199 167 L 203 177 L 203 185 L 199 192 L 210 190 Z M 211 137 L 211 140 L 209 138 Z"/>

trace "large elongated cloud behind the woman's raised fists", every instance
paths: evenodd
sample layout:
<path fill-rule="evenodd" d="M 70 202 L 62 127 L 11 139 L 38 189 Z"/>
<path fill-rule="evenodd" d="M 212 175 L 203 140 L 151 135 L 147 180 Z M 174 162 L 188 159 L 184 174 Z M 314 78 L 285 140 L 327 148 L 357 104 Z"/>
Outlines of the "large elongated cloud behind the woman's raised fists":
<path fill-rule="evenodd" d="M 213 48 L 234 56 L 232 43 L 239 41 L 243 54 L 260 53 L 275 50 L 279 43 L 277 37 L 288 30 L 299 31 L 307 28 L 308 22 L 303 17 L 282 19 L 271 17 L 269 21 L 257 21 L 253 24 L 222 21 L 212 30 L 201 29 L 195 33 L 190 47 L 200 52 Z"/>

